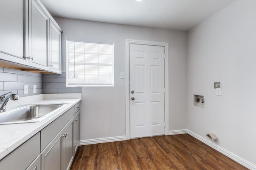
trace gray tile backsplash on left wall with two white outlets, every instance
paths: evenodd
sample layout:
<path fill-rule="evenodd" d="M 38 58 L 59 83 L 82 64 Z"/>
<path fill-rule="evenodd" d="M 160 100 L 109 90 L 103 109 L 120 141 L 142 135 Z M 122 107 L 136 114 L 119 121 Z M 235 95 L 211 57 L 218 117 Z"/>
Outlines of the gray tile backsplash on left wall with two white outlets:
<path fill-rule="evenodd" d="M 11 91 L 20 97 L 42 94 L 42 82 L 42 74 L 0 67 L 0 95 Z M 25 84 L 28 94 L 24 94 Z M 36 85 L 36 93 L 33 93 L 33 85 Z"/>

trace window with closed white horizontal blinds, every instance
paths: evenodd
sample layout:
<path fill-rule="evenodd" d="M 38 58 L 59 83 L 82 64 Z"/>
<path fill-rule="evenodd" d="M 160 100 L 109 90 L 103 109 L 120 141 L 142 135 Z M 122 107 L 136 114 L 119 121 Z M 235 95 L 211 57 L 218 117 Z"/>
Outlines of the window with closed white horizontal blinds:
<path fill-rule="evenodd" d="M 114 86 L 114 44 L 66 41 L 66 85 Z"/>

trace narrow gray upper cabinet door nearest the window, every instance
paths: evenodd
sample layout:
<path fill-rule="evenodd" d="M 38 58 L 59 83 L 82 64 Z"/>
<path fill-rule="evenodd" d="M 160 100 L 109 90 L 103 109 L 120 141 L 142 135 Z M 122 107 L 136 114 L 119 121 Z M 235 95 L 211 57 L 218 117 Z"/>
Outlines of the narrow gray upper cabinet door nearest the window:
<path fill-rule="evenodd" d="M 50 71 L 61 74 L 61 32 L 50 20 Z"/>

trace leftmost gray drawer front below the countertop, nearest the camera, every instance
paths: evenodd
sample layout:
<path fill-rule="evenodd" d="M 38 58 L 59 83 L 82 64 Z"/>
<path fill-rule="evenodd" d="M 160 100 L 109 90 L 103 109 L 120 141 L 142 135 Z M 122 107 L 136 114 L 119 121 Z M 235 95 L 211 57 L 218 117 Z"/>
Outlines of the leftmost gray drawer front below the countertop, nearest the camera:
<path fill-rule="evenodd" d="M 0 170 L 24 170 L 40 154 L 40 132 L 0 162 Z"/>

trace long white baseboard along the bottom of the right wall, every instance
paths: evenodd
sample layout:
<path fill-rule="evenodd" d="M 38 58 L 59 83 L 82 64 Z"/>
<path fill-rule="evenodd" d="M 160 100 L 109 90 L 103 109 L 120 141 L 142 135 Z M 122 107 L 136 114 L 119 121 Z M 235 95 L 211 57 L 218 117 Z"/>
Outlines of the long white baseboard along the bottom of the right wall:
<path fill-rule="evenodd" d="M 246 168 L 249 168 L 250 170 L 256 170 L 256 165 L 244 160 L 243 158 L 240 158 L 239 156 L 229 152 L 228 150 L 220 147 L 219 145 L 216 145 L 215 143 L 208 141 L 207 139 L 197 135 L 196 133 L 194 133 L 190 130 L 187 130 L 187 131 L 188 131 L 188 134 L 191 135 L 192 137 L 198 139 L 199 141 L 201 141 L 202 143 L 205 143 L 206 145 L 212 147 L 213 149 L 218 150 L 222 154 L 224 154 L 224 155 L 228 156 L 229 158 L 233 159 L 234 161 L 242 164 Z"/>

